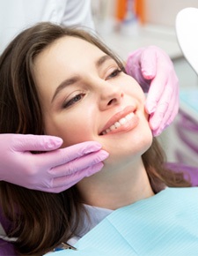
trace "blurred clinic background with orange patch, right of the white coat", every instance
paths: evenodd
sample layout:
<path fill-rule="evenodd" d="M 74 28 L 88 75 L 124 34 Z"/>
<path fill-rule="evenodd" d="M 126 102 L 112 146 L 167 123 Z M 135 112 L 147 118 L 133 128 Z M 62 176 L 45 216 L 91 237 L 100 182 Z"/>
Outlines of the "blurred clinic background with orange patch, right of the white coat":
<path fill-rule="evenodd" d="M 198 76 L 175 33 L 176 15 L 186 7 L 198 8 L 198 0 L 92 0 L 97 32 L 122 59 L 149 45 L 164 49 L 172 58 L 180 81 L 180 112 L 158 139 L 169 162 L 198 166 Z"/>

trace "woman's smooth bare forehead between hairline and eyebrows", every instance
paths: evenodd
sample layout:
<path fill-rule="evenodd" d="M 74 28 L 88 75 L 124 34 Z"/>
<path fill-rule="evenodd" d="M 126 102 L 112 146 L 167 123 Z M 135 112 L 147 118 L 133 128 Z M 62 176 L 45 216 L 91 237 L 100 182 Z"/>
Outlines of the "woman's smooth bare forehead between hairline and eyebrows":
<path fill-rule="evenodd" d="M 38 91 L 42 97 L 44 94 L 52 97 L 63 80 L 93 71 L 101 56 L 104 52 L 97 46 L 77 37 L 64 36 L 54 41 L 34 59 L 33 73 Z"/>

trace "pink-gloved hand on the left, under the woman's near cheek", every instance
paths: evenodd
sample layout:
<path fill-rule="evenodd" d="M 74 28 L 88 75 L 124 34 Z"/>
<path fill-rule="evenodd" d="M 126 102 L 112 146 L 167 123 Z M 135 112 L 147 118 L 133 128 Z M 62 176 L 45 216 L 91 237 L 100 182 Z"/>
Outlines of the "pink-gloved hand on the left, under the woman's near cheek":
<path fill-rule="evenodd" d="M 108 156 L 95 141 L 61 149 L 62 139 L 52 136 L 0 134 L 0 141 L 0 180 L 45 192 L 70 188 L 102 169 Z"/>

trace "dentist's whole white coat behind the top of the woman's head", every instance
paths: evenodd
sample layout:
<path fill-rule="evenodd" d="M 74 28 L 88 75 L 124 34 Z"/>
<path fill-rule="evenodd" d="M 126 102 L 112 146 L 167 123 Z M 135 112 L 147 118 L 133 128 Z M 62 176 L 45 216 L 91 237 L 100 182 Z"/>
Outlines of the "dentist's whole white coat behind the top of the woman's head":
<path fill-rule="evenodd" d="M 95 28 L 91 0 L 0 0 L 0 54 L 21 30 L 40 21 Z"/>

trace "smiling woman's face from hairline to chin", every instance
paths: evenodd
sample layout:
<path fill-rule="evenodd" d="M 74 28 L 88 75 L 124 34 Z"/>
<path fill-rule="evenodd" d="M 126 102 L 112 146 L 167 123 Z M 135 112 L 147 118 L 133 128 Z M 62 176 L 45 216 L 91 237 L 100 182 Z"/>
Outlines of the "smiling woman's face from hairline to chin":
<path fill-rule="evenodd" d="M 62 147 L 99 141 L 114 161 L 150 147 L 142 88 L 96 46 L 63 37 L 36 57 L 34 74 L 45 132 Z"/>

